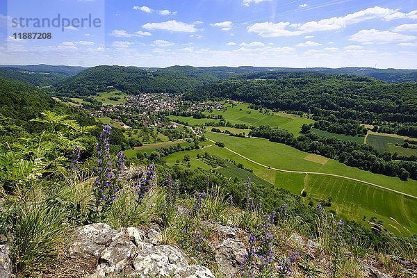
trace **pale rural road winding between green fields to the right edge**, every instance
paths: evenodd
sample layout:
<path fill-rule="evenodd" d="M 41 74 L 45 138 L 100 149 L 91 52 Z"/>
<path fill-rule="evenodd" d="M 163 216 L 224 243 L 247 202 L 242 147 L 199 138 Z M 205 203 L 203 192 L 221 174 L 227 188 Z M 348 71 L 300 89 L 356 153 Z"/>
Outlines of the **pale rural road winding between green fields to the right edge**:
<path fill-rule="evenodd" d="M 199 135 L 197 134 L 197 132 L 195 132 L 195 130 L 191 126 L 187 126 L 187 127 L 189 129 L 191 129 L 195 133 L 196 136 L 199 137 Z M 209 140 L 210 142 L 215 143 L 215 141 L 213 141 L 211 139 L 208 139 L 207 138 L 207 140 Z M 329 174 L 329 173 L 322 173 L 322 172 L 307 172 L 307 171 L 283 170 L 283 169 L 278 169 L 278 168 L 275 168 L 275 167 L 270 167 L 270 166 L 267 166 L 267 165 L 263 165 L 263 164 L 261 164 L 261 163 L 259 163 L 257 161 L 254 161 L 254 160 L 252 160 L 252 159 L 250 159 L 250 158 L 248 158 L 246 156 L 243 156 L 242 154 L 239 154 L 238 152 L 235 152 L 233 149 L 229 149 L 228 147 L 224 147 L 224 149 L 227 149 L 229 152 L 232 152 L 232 153 L 236 154 L 237 156 L 240 156 L 241 158 L 245 158 L 247 161 L 250 161 L 252 163 L 255 163 L 256 165 L 265 167 L 267 169 L 272 169 L 272 170 L 276 170 L 276 171 L 279 171 L 279 172 L 286 172 L 286 173 L 295 173 L 295 174 L 320 174 L 320 175 L 323 175 L 323 176 L 338 177 L 338 178 L 342 178 L 342 179 L 349 179 L 351 181 L 358 181 L 360 183 L 365 183 L 365 184 L 368 184 L 370 186 L 375 186 L 377 188 L 381 188 L 381 189 L 384 189 L 384 190 L 388 190 L 388 191 L 391 191 L 393 193 L 398 193 L 398 194 L 401 194 L 401 195 L 404 195 L 404 196 L 407 196 L 407 197 L 410 197 L 410 198 L 413 198 L 413 199 L 417 199 L 416 196 L 409 195 L 407 193 L 403 193 L 403 192 L 398 191 L 398 190 L 394 190 L 394 189 L 391 189 L 391 188 L 386 188 L 384 186 L 379 186 L 379 185 L 377 185 L 375 183 L 370 183 L 368 181 L 361 181 L 360 179 L 354 179 L 354 178 L 350 178 L 350 177 L 345 177 L 345 176 L 341 176 L 341 175 L 338 175 L 338 174 Z"/>

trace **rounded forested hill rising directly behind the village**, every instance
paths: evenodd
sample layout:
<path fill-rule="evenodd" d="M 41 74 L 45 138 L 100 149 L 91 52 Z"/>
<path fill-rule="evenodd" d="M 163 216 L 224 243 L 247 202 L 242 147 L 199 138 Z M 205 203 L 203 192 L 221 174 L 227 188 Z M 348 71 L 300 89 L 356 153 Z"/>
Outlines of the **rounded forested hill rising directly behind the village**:
<path fill-rule="evenodd" d="M 106 90 L 121 90 L 136 95 L 141 92 L 186 92 L 199 85 L 219 81 L 214 74 L 194 67 L 147 69 L 138 67 L 91 67 L 61 81 L 56 92 L 63 96 L 95 95 Z"/>

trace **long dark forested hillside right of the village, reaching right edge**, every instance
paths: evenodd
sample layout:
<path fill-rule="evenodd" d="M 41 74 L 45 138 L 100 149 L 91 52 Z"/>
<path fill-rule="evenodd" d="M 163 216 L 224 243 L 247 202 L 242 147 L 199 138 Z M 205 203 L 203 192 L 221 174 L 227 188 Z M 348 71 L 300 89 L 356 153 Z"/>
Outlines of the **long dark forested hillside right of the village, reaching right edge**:
<path fill-rule="evenodd" d="M 186 99 L 226 98 L 363 122 L 417 122 L 417 84 L 319 73 L 249 74 L 204 85 Z"/>

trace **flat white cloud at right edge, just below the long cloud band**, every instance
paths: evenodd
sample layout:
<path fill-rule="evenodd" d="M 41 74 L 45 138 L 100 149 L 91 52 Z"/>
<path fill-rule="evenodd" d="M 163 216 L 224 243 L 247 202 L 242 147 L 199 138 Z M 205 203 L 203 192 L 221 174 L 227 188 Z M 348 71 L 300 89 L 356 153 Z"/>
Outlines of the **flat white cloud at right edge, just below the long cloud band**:
<path fill-rule="evenodd" d="M 375 29 L 361 30 L 349 38 L 349 40 L 354 42 L 407 42 L 416 39 L 417 37 L 413 35 L 402 35 L 400 33 Z"/>

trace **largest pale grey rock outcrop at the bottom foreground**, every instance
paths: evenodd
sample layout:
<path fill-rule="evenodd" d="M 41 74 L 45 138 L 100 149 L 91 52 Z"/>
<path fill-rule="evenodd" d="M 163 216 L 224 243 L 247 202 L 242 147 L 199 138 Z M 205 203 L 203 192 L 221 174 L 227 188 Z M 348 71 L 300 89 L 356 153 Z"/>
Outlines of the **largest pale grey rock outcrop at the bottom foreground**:
<path fill-rule="evenodd" d="M 90 278 L 120 273 L 135 277 L 214 278 L 208 268 L 190 265 L 178 247 L 162 245 L 156 229 L 143 231 L 129 227 L 116 231 L 107 224 L 90 224 L 74 233 L 69 253 L 76 257 L 98 257 L 96 271 Z"/>

